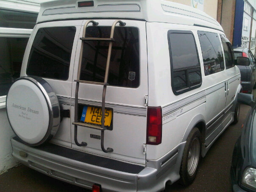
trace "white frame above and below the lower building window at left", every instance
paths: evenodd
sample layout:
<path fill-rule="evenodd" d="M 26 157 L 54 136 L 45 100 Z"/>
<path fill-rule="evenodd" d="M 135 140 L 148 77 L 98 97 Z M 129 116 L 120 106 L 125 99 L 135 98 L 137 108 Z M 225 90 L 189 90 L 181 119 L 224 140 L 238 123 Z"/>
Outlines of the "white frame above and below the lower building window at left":
<path fill-rule="evenodd" d="M 33 29 L 0 28 L 0 38 L 27 38 Z M 0 109 L 6 107 L 6 95 L 0 96 Z"/>

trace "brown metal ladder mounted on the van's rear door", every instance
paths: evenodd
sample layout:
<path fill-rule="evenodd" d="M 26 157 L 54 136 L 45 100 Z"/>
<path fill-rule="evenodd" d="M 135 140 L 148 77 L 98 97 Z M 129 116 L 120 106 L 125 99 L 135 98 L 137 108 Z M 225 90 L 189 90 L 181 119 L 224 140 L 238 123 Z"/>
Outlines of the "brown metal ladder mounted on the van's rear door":
<path fill-rule="evenodd" d="M 80 52 L 80 58 L 79 58 L 79 64 L 78 64 L 78 75 L 77 75 L 77 80 L 75 80 L 75 82 L 76 82 L 76 87 L 75 87 L 75 118 L 74 118 L 74 122 L 72 122 L 72 124 L 75 125 L 74 140 L 75 140 L 75 144 L 78 145 L 78 146 L 86 146 L 87 145 L 86 142 L 81 142 L 81 143 L 78 142 L 78 140 L 77 140 L 77 126 L 82 126 L 82 127 L 85 127 L 85 128 L 92 128 L 92 129 L 100 130 L 101 131 L 101 137 L 100 137 L 101 149 L 103 150 L 103 152 L 109 153 L 109 152 L 114 151 L 110 147 L 108 147 L 107 149 L 105 149 L 105 147 L 104 147 L 104 131 L 106 130 L 106 127 L 104 125 L 105 124 L 105 122 L 104 122 L 104 120 L 105 120 L 105 97 L 106 97 L 107 85 L 109 85 L 107 83 L 108 78 L 109 78 L 109 64 L 110 64 L 110 57 L 111 57 L 111 51 L 112 51 L 112 44 L 115 41 L 114 38 L 113 38 L 114 37 L 114 28 L 117 25 L 117 23 L 119 23 L 120 26 L 125 26 L 126 23 L 122 22 L 121 20 L 116 20 L 113 23 L 112 27 L 111 27 L 110 38 L 86 38 L 85 37 L 86 27 L 89 23 L 92 23 L 92 25 L 94 25 L 94 26 L 97 26 L 99 24 L 98 22 L 95 22 L 94 20 L 87 21 L 83 26 L 83 36 L 82 36 L 82 38 L 80 38 L 82 40 L 82 45 L 81 45 L 81 52 Z M 108 57 L 107 57 L 107 63 L 106 63 L 106 72 L 105 72 L 104 83 L 80 80 L 84 41 L 107 41 L 107 42 L 109 42 L 109 51 L 108 51 Z M 79 89 L 79 83 L 103 85 L 102 105 L 101 105 L 101 109 L 102 109 L 101 110 L 101 127 L 96 126 L 96 125 L 90 125 L 88 123 L 83 123 L 83 122 L 78 121 L 78 89 Z"/>

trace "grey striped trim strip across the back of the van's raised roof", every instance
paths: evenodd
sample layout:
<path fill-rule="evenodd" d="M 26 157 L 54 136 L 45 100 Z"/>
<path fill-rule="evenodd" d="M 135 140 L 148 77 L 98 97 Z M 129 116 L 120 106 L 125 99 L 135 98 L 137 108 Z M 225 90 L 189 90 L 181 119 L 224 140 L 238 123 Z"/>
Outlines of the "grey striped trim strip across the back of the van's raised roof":
<path fill-rule="evenodd" d="M 141 8 L 138 4 L 105 4 L 97 7 L 59 7 L 48 8 L 43 12 L 43 16 L 56 14 L 81 14 L 93 12 L 140 12 Z"/>

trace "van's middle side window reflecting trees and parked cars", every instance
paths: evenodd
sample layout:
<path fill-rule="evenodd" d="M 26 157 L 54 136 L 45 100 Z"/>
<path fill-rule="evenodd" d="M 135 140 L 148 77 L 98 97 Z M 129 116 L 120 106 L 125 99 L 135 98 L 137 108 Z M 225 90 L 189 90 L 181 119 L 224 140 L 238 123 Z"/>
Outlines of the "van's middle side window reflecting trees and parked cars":
<path fill-rule="evenodd" d="M 217 33 L 198 31 L 203 54 L 204 74 L 211 75 L 225 69 L 220 39 Z"/>

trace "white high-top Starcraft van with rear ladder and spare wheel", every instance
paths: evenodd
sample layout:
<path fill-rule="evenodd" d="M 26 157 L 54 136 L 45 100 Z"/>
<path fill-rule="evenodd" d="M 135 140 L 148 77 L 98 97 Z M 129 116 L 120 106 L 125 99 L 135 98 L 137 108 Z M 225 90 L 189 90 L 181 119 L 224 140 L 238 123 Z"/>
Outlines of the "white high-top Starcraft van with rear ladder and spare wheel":
<path fill-rule="evenodd" d="M 241 89 L 231 44 L 202 11 L 166 0 L 43 3 L 6 100 L 13 156 L 95 191 L 188 185 L 237 122 Z"/>

